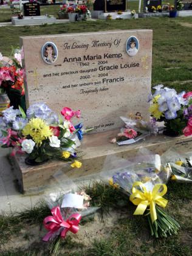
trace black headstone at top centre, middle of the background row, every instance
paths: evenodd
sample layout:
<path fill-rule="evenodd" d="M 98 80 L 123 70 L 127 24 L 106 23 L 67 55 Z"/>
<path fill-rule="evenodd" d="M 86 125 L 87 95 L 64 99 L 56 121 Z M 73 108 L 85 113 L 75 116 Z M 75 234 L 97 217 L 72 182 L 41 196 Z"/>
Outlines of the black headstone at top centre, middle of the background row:
<path fill-rule="evenodd" d="M 95 0 L 94 10 L 103 10 L 104 12 L 125 11 L 126 0 Z"/>

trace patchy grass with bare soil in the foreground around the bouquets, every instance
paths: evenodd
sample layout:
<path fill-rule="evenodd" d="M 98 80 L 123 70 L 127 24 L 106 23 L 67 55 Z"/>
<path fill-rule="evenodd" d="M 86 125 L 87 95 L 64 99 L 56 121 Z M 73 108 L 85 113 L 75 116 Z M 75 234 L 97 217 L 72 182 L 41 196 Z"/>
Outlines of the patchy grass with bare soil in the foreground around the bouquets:
<path fill-rule="evenodd" d="M 168 183 L 168 212 L 180 223 L 179 234 L 168 238 L 152 238 L 145 216 L 132 215 L 135 206 L 128 196 L 101 183 L 86 188 L 92 206 L 100 211 L 81 221 L 77 234 L 67 233 L 58 255 L 69 256 L 190 256 L 192 236 L 192 184 Z M 49 209 L 41 202 L 17 216 L 0 216 L 1 256 L 55 255 L 50 244 L 41 241 L 42 229 Z"/>

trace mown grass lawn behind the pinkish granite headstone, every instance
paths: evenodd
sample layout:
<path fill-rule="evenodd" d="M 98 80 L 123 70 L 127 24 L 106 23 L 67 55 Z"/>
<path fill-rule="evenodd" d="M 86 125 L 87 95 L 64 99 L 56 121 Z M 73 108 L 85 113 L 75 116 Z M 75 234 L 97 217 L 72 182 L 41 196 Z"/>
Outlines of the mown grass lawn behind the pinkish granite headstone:
<path fill-rule="evenodd" d="M 94 32 L 118 29 L 153 29 L 152 85 L 162 83 L 177 91 L 192 89 L 192 17 L 170 19 L 140 18 L 114 21 L 87 21 L 24 27 L 0 27 L 0 51 L 9 55 L 19 47 L 19 36 Z"/>

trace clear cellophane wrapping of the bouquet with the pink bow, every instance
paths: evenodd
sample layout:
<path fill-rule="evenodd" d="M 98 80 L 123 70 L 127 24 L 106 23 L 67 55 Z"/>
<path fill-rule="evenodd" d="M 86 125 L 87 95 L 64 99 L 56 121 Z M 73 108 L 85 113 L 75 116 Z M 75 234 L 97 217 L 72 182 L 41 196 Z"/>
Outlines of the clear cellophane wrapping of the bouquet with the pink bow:
<path fill-rule="evenodd" d="M 98 207 L 90 207 L 91 197 L 87 195 L 84 190 L 79 189 L 78 186 L 66 175 L 62 175 L 62 179 L 64 179 L 64 181 L 61 181 L 61 175 L 58 175 L 58 177 L 55 176 L 55 181 L 57 182 L 55 190 L 44 197 L 49 209 L 52 210 L 54 207 L 59 207 L 64 221 L 69 219 L 74 213 L 81 215 L 81 220 L 85 220 L 89 216 L 94 215 L 98 210 Z M 65 199 L 66 196 L 70 196 L 67 201 Z M 75 198 L 76 196 L 78 198 Z M 67 203 L 67 207 L 65 202 Z M 78 227 L 80 228 L 80 224 Z M 64 229 L 65 227 L 60 227 L 60 229 L 53 232 L 49 238 L 49 241 L 52 243 L 53 252 L 55 252 L 58 241 L 62 239 L 61 232 Z"/>

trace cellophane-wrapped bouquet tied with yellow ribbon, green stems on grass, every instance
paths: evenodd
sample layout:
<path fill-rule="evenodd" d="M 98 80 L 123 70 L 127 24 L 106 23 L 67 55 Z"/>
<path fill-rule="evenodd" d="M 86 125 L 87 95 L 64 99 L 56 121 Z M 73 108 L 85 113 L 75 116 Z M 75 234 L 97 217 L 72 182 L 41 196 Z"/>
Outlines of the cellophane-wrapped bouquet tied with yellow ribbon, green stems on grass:
<path fill-rule="evenodd" d="M 112 168 L 106 165 L 101 179 L 130 195 L 130 201 L 137 206 L 134 215 L 146 213 L 151 235 L 158 238 L 177 234 L 179 224 L 162 209 L 168 202 L 163 195 L 171 173 L 170 165 L 163 166 L 159 155 L 140 155 L 131 161 L 110 159 L 108 165 Z"/>

